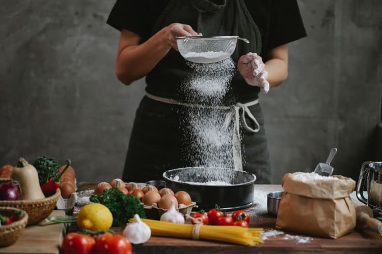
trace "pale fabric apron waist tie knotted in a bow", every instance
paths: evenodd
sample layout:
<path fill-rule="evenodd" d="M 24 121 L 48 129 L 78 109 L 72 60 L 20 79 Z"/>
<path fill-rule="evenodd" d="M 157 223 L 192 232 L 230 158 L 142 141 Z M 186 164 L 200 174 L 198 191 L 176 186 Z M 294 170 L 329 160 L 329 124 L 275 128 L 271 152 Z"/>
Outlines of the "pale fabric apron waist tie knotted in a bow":
<path fill-rule="evenodd" d="M 260 124 L 256 120 L 255 116 L 251 113 L 248 107 L 256 105 L 259 103 L 259 99 L 248 103 L 236 103 L 231 106 L 205 106 L 199 104 L 191 104 L 191 103 L 183 103 L 173 99 L 163 98 L 154 96 L 150 93 L 146 93 L 146 96 L 154 101 L 180 105 L 185 107 L 192 108 L 217 108 L 223 110 L 229 110 L 224 120 L 223 128 L 227 129 L 232 121 L 234 121 L 234 132 L 232 133 L 232 146 L 233 146 L 233 164 L 235 169 L 242 170 L 242 158 L 241 158 L 241 144 L 240 144 L 240 109 L 241 109 L 241 119 L 245 130 L 256 133 L 260 130 Z M 255 129 L 251 128 L 247 120 L 245 119 L 245 115 L 249 117 L 249 119 L 256 125 Z"/>

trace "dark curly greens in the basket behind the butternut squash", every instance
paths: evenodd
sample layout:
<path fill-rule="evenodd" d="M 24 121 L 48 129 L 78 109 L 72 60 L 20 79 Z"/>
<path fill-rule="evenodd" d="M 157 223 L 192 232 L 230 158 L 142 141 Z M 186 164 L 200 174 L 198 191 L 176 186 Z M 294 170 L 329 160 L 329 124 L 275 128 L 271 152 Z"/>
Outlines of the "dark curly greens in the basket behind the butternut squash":
<path fill-rule="evenodd" d="M 37 157 L 32 165 L 37 170 L 40 184 L 46 183 L 46 179 L 56 178 L 61 167 L 55 158 L 45 156 Z"/>

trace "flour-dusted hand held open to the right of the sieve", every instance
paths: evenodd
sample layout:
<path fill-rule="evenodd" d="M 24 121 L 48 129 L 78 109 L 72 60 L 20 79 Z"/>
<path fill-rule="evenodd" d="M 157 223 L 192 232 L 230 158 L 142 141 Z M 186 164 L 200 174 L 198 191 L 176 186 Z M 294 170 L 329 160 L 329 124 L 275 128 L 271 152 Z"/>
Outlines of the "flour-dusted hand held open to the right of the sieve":
<path fill-rule="evenodd" d="M 267 93 L 269 91 L 268 72 L 264 68 L 265 65 L 261 56 L 251 52 L 242 55 L 237 63 L 237 69 L 245 82 L 249 85 L 258 86 L 263 89 L 264 93 Z"/>

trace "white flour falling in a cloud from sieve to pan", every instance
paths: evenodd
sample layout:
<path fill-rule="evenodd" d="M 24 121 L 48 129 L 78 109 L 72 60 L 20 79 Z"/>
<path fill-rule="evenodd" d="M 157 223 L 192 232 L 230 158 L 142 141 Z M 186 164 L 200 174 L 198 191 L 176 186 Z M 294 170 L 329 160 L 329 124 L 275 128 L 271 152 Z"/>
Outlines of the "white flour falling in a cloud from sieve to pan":
<path fill-rule="evenodd" d="M 184 160 L 190 167 L 232 169 L 233 124 L 223 128 L 228 111 L 216 106 L 227 99 L 235 63 L 227 58 L 208 64 L 187 62 L 187 65 L 192 72 L 183 81 L 181 91 L 194 106 L 185 108 L 182 119 Z"/>

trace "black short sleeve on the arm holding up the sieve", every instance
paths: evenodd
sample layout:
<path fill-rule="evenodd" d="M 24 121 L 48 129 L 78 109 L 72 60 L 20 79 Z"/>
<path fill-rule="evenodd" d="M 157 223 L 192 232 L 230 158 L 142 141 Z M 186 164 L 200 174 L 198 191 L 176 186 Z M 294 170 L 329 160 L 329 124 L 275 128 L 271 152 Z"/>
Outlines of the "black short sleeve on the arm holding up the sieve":
<path fill-rule="evenodd" d="M 147 40 L 167 1 L 117 0 L 106 23 L 118 30 L 127 29 Z"/>

